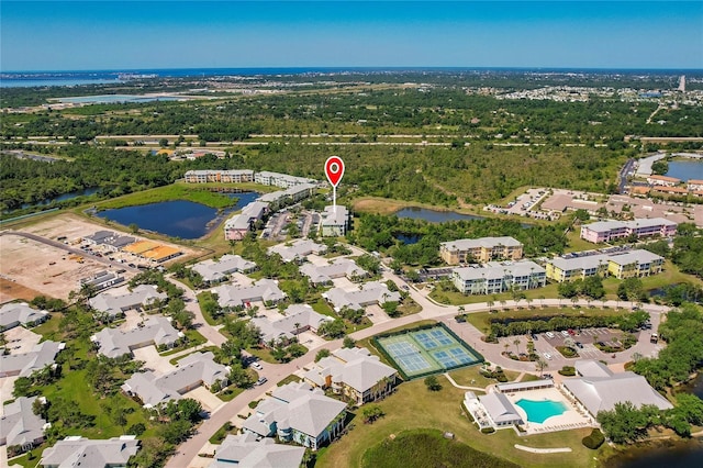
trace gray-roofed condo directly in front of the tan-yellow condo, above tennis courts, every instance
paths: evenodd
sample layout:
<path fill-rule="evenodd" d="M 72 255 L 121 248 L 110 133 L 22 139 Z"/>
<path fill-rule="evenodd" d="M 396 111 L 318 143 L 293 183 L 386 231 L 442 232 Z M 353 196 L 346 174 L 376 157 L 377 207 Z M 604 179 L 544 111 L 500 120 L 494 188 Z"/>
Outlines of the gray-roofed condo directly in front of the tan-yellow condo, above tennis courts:
<path fill-rule="evenodd" d="M 505 265 L 491 263 L 483 268 L 455 268 L 451 280 L 464 294 L 496 294 L 513 289 L 542 288 L 547 277 L 544 268 L 525 260 Z"/>

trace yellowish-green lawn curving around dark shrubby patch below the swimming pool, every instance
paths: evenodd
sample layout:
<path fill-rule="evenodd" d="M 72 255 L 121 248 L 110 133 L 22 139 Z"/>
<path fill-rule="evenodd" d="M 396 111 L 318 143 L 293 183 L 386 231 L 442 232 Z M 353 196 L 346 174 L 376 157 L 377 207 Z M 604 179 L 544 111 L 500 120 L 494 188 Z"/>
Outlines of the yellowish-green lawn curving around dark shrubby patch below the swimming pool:
<path fill-rule="evenodd" d="M 590 428 L 528 437 L 520 437 L 512 430 L 483 435 L 462 413 L 460 404 L 464 393 L 465 390 L 449 386 L 446 380 L 437 392 L 428 391 L 422 379 L 402 383 L 394 394 L 377 403 L 386 413 L 383 417 L 373 424 L 364 424 L 360 417 L 355 419 L 348 434 L 321 450 L 316 467 L 359 467 L 369 447 L 391 434 L 415 428 L 451 432 L 458 442 L 480 452 L 500 454 L 525 467 L 593 467 L 598 464 L 594 457 L 605 458 L 610 455 L 606 445 L 599 450 L 589 450 L 581 445 L 581 438 L 590 434 Z M 514 444 L 537 448 L 571 447 L 573 452 L 538 455 L 516 450 Z"/>

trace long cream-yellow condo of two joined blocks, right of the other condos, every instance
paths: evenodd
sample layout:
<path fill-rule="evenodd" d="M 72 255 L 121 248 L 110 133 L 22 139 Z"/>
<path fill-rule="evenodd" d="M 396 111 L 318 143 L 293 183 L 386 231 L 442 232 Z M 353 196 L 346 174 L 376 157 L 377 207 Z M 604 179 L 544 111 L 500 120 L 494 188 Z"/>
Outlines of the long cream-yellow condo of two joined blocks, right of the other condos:
<path fill-rule="evenodd" d="M 661 272 L 663 258 L 639 249 L 613 255 L 587 253 L 571 258 L 554 258 L 547 263 L 546 269 L 547 278 L 557 282 L 576 281 L 594 275 L 625 279 Z"/>

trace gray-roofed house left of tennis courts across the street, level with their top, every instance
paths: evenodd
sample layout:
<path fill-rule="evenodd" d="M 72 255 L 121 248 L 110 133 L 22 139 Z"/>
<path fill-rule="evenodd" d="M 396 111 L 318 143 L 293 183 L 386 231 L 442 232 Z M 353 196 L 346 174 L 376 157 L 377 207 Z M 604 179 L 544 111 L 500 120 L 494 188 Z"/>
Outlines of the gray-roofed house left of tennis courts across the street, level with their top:
<path fill-rule="evenodd" d="M 261 343 L 270 343 L 271 339 L 288 341 L 302 332 L 311 330 L 317 333 L 317 328 L 325 322 L 334 319 L 315 312 L 308 304 L 293 304 L 286 309 L 286 315 L 279 320 L 271 321 L 268 317 L 252 319 L 252 324 L 261 332 Z M 295 326 L 298 325 L 298 326 Z"/>

